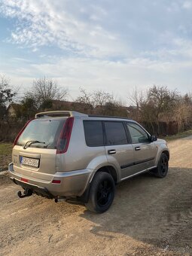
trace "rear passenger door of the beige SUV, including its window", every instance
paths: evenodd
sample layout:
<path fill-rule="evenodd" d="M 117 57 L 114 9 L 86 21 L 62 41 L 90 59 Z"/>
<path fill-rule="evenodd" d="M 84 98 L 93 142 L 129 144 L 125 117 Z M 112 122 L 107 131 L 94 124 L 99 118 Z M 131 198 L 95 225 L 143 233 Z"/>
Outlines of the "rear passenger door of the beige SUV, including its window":
<path fill-rule="evenodd" d="M 117 166 L 120 179 L 132 175 L 133 168 L 133 145 L 126 135 L 122 121 L 103 121 L 105 130 L 105 153 L 109 163 Z"/>

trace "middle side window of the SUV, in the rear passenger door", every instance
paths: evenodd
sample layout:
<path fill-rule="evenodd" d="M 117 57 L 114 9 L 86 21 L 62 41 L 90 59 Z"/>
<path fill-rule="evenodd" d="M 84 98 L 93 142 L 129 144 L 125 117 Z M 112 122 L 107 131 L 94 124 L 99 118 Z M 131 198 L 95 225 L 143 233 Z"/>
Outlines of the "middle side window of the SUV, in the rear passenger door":
<path fill-rule="evenodd" d="M 122 122 L 105 122 L 106 145 L 127 144 L 126 132 Z"/>

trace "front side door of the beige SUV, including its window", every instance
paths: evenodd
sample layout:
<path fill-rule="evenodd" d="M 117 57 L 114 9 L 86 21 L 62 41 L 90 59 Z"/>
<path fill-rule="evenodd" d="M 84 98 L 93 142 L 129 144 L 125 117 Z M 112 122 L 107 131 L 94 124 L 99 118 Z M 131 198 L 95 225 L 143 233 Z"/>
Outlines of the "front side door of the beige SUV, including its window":
<path fill-rule="evenodd" d="M 138 123 L 126 122 L 126 129 L 132 139 L 135 172 L 153 167 L 157 147 L 148 133 Z"/>

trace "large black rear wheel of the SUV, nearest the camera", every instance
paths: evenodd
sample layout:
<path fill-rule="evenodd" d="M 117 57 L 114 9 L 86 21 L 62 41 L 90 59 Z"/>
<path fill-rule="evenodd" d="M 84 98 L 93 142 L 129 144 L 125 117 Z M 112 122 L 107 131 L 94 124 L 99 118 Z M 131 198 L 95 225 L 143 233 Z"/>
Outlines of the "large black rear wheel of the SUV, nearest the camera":
<path fill-rule="evenodd" d="M 90 184 L 89 200 L 85 203 L 91 212 L 102 213 L 109 209 L 114 200 L 114 179 L 107 172 L 96 172 Z"/>

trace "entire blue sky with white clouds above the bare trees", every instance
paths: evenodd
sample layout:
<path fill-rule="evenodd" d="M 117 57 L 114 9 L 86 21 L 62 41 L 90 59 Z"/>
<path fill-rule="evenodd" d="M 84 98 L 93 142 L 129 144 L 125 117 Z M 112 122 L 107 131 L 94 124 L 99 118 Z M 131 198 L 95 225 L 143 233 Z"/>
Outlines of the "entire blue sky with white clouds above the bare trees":
<path fill-rule="evenodd" d="M 134 87 L 192 91 L 192 1 L 0 0 L 0 74 L 126 97 Z"/>

